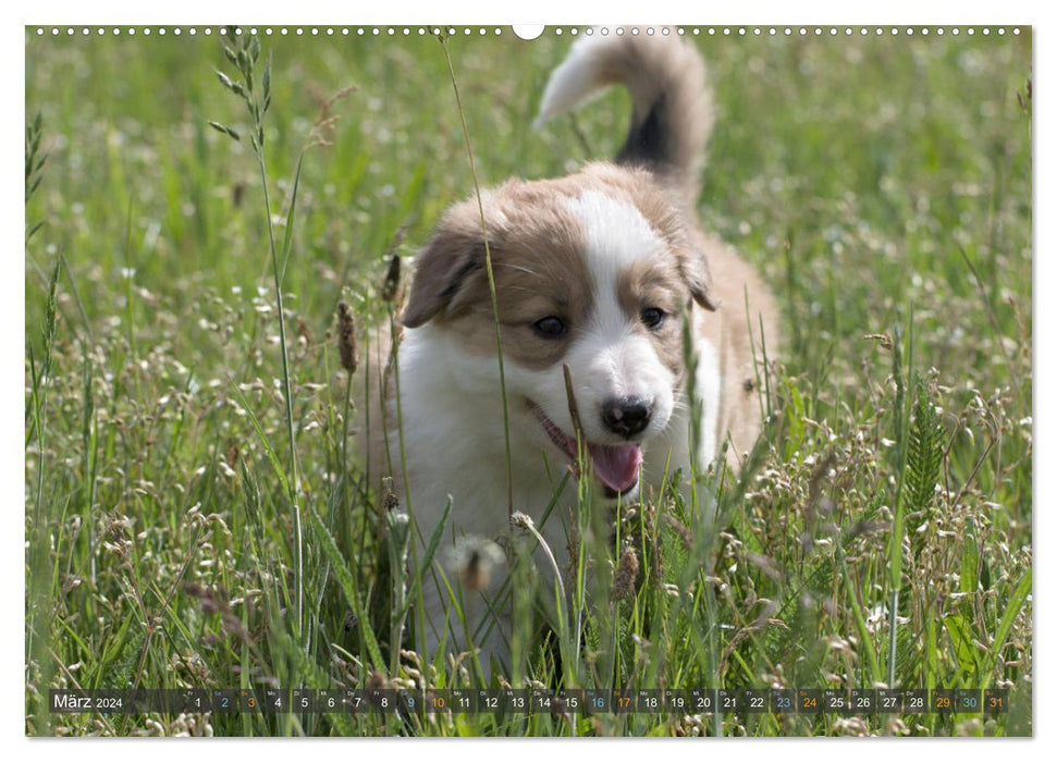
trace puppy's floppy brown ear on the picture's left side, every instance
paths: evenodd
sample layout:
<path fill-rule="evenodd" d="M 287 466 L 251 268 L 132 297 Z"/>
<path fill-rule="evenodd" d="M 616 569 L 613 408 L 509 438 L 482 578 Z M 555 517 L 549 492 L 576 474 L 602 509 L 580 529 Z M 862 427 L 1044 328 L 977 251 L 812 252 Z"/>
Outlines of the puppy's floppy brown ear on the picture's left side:
<path fill-rule="evenodd" d="M 415 275 L 401 322 L 418 328 L 445 311 L 470 274 L 484 266 L 480 222 L 448 216 L 415 258 Z"/>

